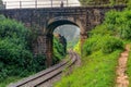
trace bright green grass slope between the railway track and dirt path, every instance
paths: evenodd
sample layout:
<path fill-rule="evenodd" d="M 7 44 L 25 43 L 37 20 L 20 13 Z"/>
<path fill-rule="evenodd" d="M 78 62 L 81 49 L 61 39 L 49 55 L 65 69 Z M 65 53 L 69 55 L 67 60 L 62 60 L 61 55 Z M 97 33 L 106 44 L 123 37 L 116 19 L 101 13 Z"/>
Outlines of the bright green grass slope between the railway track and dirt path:
<path fill-rule="evenodd" d="M 83 65 L 71 75 L 63 76 L 55 87 L 114 87 L 120 52 L 121 50 L 117 50 L 104 54 L 97 51 L 83 58 Z"/>

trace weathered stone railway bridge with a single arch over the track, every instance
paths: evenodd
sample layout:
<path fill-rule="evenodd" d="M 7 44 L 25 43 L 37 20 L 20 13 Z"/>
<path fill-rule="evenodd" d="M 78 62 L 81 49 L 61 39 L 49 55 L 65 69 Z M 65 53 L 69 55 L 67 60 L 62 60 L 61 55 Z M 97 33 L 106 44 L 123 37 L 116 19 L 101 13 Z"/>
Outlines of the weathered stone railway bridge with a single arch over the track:
<path fill-rule="evenodd" d="M 33 30 L 37 29 L 38 37 L 32 44 L 33 52 L 34 54 L 46 54 L 49 66 L 52 63 L 52 33 L 56 27 L 64 24 L 80 27 L 81 44 L 83 44 L 88 30 L 104 21 L 107 11 L 121 11 L 123 8 L 124 5 L 11 9 L 0 10 L 0 14 L 22 22 Z"/>

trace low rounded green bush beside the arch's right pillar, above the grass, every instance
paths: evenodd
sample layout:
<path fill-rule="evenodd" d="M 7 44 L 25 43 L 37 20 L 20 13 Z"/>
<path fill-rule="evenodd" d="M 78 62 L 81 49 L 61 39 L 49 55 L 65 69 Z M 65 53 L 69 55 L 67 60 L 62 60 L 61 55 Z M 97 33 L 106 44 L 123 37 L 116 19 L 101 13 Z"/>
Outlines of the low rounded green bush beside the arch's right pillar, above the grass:
<path fill-rule="evenodd" d="M 117 49 L 123 49 L 123 42 L 112 36 L 94 35 L 83 46 L 83 55 L 88 55 L 97 50 L 110 53 Z"/>

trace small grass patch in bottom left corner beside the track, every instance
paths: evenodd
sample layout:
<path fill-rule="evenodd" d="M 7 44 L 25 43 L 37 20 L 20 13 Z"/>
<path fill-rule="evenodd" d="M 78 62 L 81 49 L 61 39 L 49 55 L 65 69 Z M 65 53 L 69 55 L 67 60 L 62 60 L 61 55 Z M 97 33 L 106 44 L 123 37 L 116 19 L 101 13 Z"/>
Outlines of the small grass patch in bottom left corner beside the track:
<path fill-rule="evenodd" d="M 16 82 L 19 79 L 21 79 L 21 77 L 17 76 L 8 77 L 3 82 L 0 82 L 0 87 L 7 87 L 7 85 L 9 85 L 10 83 Z"/>

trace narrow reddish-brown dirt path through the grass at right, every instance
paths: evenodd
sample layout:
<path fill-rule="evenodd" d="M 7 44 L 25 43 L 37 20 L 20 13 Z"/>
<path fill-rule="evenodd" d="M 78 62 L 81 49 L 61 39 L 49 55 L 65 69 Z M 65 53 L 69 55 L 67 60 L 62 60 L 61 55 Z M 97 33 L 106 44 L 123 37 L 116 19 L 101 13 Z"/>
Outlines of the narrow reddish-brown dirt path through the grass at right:
<path fill-rule="evenodd" d="M 116 74 L 117 74 L 116 87 L 128 87 L 129 86 L 128 75 L 126 74 L 129 51 L 130 51 L 130 46 L 127 45 L 126 50 L 121 53 L 118 60 L 118 66 L 116 71 Z"/>

